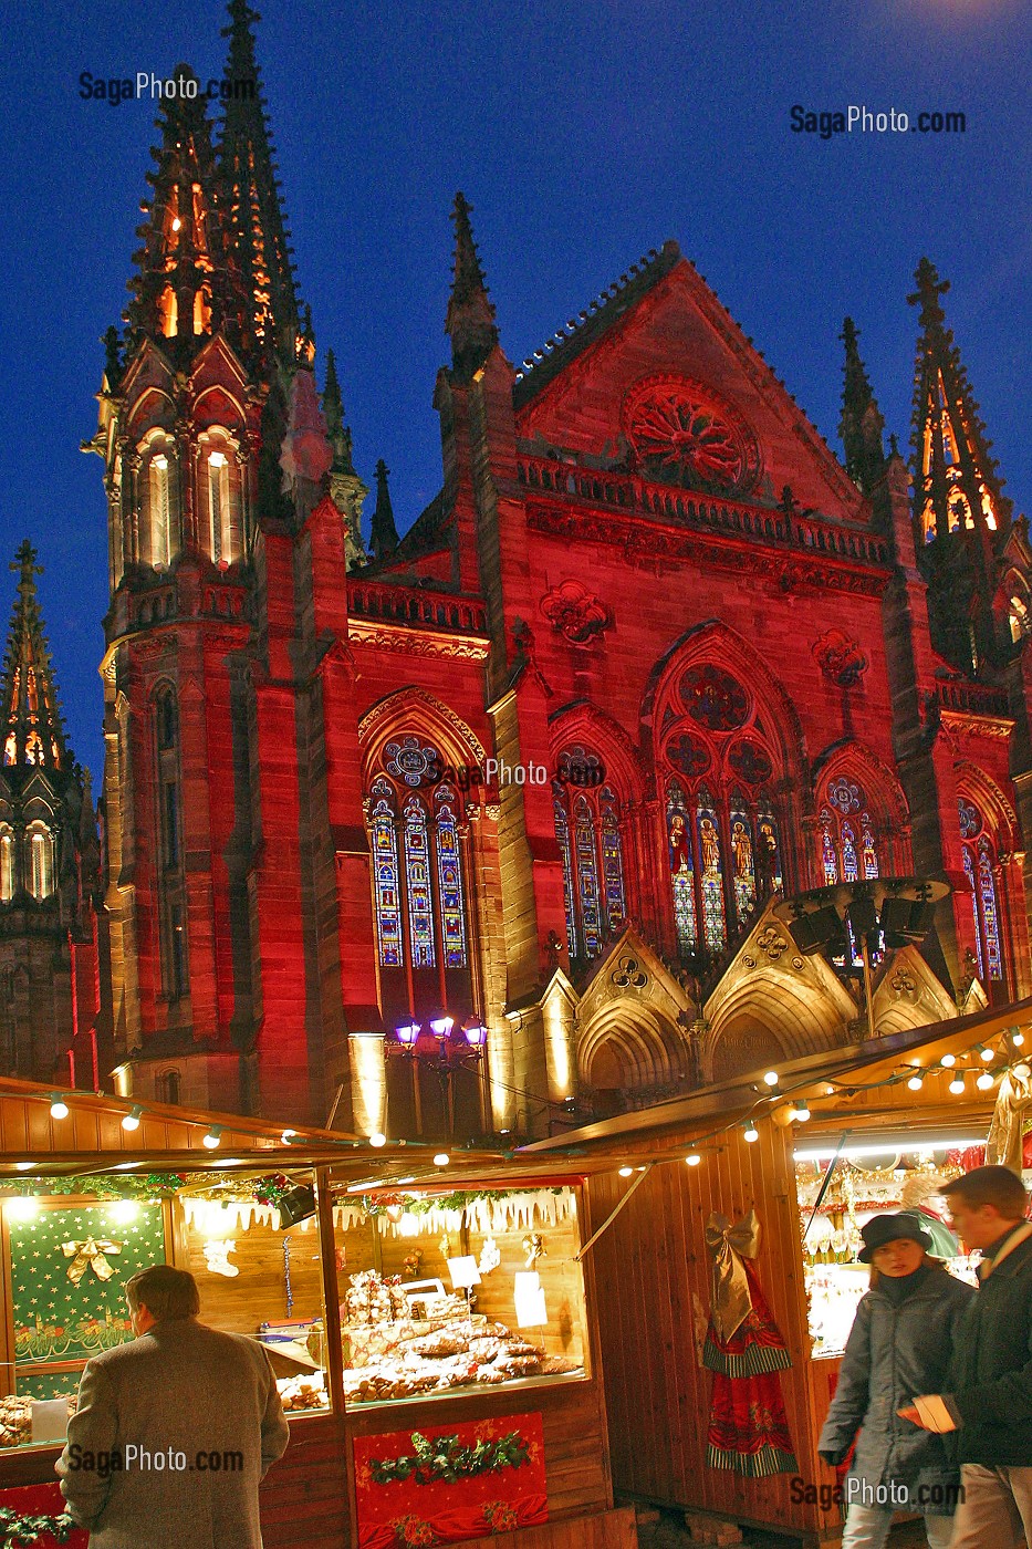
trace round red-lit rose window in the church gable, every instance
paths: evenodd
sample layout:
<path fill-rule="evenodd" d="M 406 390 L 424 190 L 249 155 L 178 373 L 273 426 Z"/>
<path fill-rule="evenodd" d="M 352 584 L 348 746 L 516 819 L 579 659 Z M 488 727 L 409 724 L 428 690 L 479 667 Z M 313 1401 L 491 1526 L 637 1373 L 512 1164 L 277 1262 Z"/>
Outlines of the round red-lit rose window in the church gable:
<path fill-rule="evenodd" d="M 628 397 L 623 420 L 637 465 L 654 477 L 719 494 L 739 494 L 756 480 L 755 437 L 699 383 L 649 378 Z"/>

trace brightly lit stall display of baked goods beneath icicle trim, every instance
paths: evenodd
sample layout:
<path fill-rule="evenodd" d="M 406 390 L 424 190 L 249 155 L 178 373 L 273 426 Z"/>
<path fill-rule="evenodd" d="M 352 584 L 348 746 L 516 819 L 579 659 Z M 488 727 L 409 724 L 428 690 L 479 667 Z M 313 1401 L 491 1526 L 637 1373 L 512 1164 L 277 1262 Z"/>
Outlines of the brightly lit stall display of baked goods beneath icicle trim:
<path fill-rule="evenodd" d="M 344 1199 L 333 1222 L 347 1405 L 586 1376 L 573 1190 Z"/>

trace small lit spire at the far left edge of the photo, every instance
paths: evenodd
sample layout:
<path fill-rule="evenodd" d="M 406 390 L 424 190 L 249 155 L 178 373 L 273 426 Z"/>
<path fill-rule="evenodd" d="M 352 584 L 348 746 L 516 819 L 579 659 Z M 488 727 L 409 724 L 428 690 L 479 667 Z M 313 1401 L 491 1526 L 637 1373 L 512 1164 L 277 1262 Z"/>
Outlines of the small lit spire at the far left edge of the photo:
<path fill-rule="evenodd" d="M 36 595 L 36 576 L 42 575 L 42 567 L 36 564 L 36 550 L 28 538 L 11 568 L 20 575 L 0 682 L 3 765 L 67 770 L 71 759 Z"/>

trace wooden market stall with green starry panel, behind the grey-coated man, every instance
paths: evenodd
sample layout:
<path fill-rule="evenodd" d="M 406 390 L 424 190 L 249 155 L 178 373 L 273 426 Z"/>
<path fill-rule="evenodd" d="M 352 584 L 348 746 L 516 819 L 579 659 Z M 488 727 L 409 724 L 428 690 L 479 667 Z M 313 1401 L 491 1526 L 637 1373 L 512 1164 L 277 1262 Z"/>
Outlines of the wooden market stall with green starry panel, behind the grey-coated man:
<path fill-rule="evenodd" d="M 291 1442 L 262 1487 L 268 1549 L 404 1549 L 434 1513 L 476 1540 L 474 1507 L 513 1549 L 634 1549 L 580 1169 L 56 1097 L 0 1080 L 0 1507 L 60 1510 L 67 1400 L 91 1354 L 132 1337 L 129 1275 L 170 1262 L 205 1321 L 270 1351 Z M 442 1434 L 466 1448 L 457 1482 Z"/>

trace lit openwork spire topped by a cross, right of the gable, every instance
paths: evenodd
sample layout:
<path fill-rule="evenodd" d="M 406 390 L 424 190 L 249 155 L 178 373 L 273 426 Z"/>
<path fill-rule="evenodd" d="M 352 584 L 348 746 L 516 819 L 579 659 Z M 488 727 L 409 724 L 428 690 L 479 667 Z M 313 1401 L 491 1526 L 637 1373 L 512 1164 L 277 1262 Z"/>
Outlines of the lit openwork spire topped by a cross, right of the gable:
<path fill-rule="evenodd" d="M 1010 502 L 1001 494 L 992 443 L 945 325 L 941 297 L 950 282 L 939 279 L 928 259 L 920 260 L 914 279 L 917 291 L 906 299 L 920 307 L 911 438 L 919 536 L 930 544 L 950 533 L 976 534 L 987 556 L 990 534 L 1010 522 Z"/>

